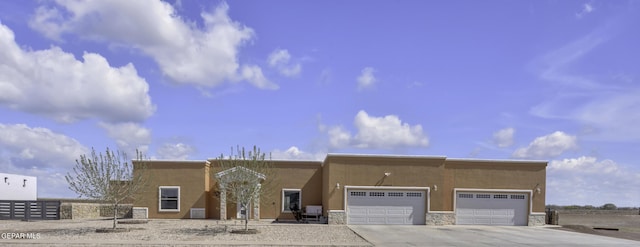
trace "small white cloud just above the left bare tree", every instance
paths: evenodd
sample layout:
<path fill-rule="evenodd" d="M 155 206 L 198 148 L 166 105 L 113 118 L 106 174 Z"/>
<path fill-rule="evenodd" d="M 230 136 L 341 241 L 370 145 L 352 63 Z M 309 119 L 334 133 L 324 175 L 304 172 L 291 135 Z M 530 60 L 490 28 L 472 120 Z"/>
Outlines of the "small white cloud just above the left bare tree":
<path fill-rule="evenodd" d="M 118 149 L 125 152 L 129 159 L 135 158 L 136 150 L 147 154 L 151 143 L 151 130 L 137 123 L 99 123 L 107 135 L 116 141 Z"/>

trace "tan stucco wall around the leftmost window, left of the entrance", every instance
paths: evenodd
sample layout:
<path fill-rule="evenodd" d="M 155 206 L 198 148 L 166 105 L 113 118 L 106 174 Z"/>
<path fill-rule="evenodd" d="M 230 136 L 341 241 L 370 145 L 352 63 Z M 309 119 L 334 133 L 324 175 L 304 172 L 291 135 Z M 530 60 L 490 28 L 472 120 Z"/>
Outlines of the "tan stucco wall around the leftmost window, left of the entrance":
<path fill-rule="evenodd" d="M 148 207 L 149 218 L 188 219 L 191 208 L 205 208 L 205 161 L 148 161 L 145 191 L 136 195 L 134 207 Z M 136 170 L 139 172 L 139 170 Z M 159 187 L 180 186 L 180 212 L 160 212 Z"/>

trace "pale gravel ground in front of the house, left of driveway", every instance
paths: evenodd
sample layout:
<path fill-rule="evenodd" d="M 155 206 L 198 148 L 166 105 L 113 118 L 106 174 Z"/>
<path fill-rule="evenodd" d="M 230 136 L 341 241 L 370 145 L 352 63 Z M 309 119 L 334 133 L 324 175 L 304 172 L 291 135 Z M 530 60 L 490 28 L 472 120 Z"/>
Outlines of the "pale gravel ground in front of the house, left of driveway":
<path fill-rule="evenodd" d="M 146 224 L 119 224 L 119 228 L 130 228 L 129 232 L 96 233 L 96 229 L 110 228 L 110 220 L 51 220 L 51 221 L 0 221 L 0 245 L 331 245 L 370 246 L 347 226 L 325 224 L 272 224 L 251 222 L 249 228 L 258 234 L 232 234 L 232 230 L 243 229 L 240 221 L 216 220 L 149 220 Z M 36 234 L 38 239 L 8 239 L 7 233 Z"/>

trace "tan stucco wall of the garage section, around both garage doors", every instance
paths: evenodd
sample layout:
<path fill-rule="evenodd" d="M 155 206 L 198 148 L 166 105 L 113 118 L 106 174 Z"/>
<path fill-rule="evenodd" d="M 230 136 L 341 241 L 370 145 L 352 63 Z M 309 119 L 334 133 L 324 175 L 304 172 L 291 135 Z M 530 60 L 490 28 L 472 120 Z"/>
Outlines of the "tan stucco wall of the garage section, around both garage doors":
<path fill-rule="evenodd" d="M 540 161 L 329 155 L 323 167 L 323 204 L 329 210 L 344 210 L 347 185 L 429 187 L 430 210 L 453 211 L 454 188 L 505 189 L 533 191 L 533 212 L 544 212 L 546 165 Z M 391 175 L 385 178 L 385 172 Z"/>

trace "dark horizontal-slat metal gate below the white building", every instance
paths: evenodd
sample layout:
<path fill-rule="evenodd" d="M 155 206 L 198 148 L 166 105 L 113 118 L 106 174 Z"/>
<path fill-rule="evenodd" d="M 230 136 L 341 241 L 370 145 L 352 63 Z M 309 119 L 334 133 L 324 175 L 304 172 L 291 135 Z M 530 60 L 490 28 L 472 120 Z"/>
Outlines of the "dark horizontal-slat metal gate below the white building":
<path fill-rule="evenodd" d="M 59 220 L 60 201 L 0 201 L 0 220 Z"/>

